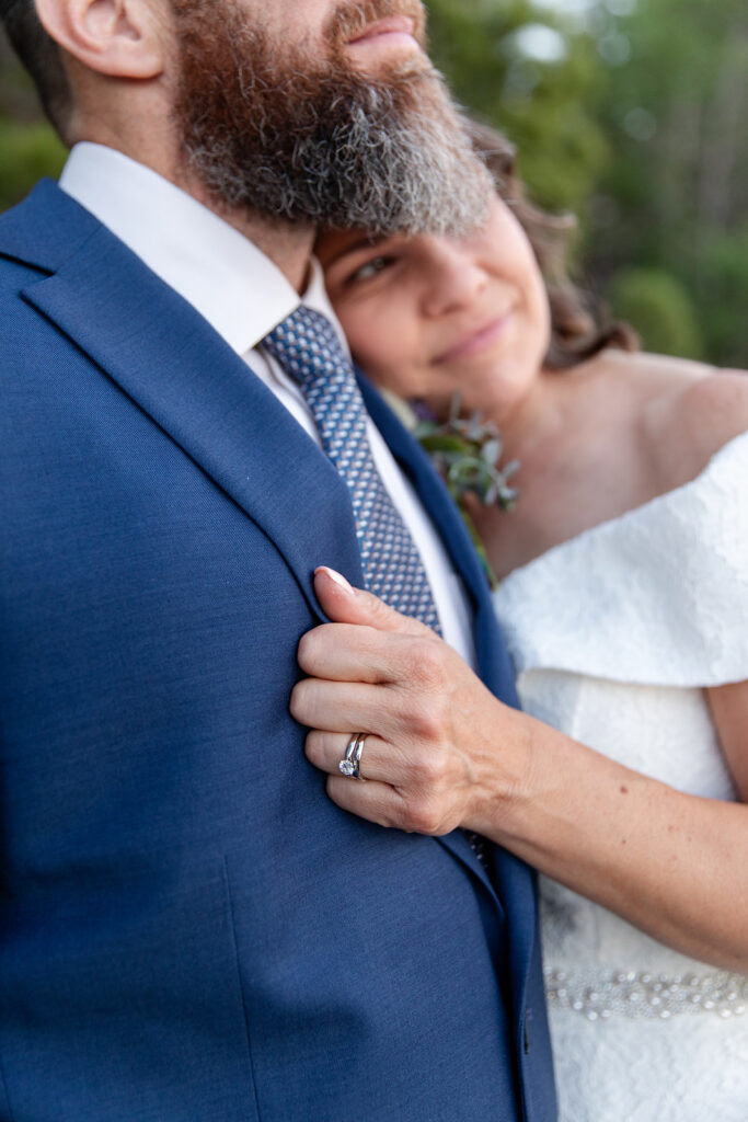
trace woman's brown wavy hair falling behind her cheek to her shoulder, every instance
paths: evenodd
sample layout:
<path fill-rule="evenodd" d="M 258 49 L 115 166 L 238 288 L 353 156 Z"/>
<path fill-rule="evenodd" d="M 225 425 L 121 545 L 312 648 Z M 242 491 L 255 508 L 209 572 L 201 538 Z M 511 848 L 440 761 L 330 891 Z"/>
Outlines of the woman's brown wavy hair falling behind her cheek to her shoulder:
<path fill-rule="evenodd" d="M 541 267 L 551 306 L 551 346 L 545 365 L 563 370 L 607 347 L 635 351 L 636 332 L 628 323 L 606 320 L 569 275 L 566 247 L 576 227 L 573 215 L 554 217 L 534 206 L 516 173 L 516 153 L 507 138 L 486 125 L 472 126 L 475 151 L 527 234 Z"/>

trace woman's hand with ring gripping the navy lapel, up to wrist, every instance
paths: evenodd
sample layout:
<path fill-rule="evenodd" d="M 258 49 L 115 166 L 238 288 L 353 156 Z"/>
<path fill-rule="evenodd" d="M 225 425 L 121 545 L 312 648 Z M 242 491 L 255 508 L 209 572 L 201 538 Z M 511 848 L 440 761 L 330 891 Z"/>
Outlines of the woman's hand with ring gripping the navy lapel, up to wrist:
<path fill-rule="evenodd" d="M 298 662 L 310 677 L 290 710 L 312 729 L 306 755 L 329 773 L 330 798 L 403 830 L 486 829 L 521 771 L 518 715 L 425 625 L 329 569 L 317 570 L 315 590 L 335 622 L 302 638 Z M 364 783 L 339 770 L 359 732 Z"/>

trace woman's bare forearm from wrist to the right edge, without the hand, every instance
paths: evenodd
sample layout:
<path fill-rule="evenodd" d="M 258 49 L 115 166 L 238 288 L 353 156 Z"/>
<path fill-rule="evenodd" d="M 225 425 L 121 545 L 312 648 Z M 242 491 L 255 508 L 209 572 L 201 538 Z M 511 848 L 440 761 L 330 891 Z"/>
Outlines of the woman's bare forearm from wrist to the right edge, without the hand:
<path fill-rule="evenodd" d="M 521 720 L 530 764 L 489 811 L 491 838 L 676 950 L 748 973 L 748 807 L 683 794 Z"/>

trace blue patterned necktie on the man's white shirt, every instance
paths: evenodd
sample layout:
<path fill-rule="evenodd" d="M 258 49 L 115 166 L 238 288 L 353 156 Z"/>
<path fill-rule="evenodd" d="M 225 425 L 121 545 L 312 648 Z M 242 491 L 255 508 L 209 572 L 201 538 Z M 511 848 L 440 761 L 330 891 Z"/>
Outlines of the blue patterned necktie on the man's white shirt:
<path fill-rule="evenodd" d="M 361 390 L 332 323 L 298 307 L 262 344 L 298 383 L 322 445 L 348 485 L 367 588 L 441 634 L 426 570 L 377 471 Z"/>

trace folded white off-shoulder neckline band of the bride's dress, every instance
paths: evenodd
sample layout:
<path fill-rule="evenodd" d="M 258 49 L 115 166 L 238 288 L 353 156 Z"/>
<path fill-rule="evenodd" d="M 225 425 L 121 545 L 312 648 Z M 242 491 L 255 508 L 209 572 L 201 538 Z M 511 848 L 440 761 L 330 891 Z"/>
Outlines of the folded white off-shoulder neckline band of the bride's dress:
<path fill-rule="evenodd" d="M 748 678 L 748 432 L 682 486 L 512 570 L 493 605 L 518 674 Z"/>

